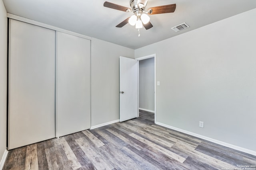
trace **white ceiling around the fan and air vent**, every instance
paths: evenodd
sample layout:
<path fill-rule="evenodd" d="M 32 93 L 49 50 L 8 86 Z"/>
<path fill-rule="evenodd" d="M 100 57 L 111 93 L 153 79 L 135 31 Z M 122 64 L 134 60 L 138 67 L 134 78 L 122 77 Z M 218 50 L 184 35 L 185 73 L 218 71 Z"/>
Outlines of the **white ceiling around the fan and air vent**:
<path fill-rule="evenodd" d="M 130 0 L 108 0 L 130 7 Z M 176 4 L 174 13 L 150 15 L 151 29 L 140 29 L 129 24 L 115 27 L 132 16 L 103 6 L 105 0 L 3 0 L 10 14 L 138 49 L 174 37 L 193 29 L 223 20 L 256 8 L 256 0 L 148 0 L 146 9 Z M 256 16 L 252 16 L 256 17 Z M 171 29 L 186 22 L 190 28 L 175 32 Z M 228 26 L 228 25 L 227 25 Z M 242 27 L 242 25 L 241 25 Z"/>

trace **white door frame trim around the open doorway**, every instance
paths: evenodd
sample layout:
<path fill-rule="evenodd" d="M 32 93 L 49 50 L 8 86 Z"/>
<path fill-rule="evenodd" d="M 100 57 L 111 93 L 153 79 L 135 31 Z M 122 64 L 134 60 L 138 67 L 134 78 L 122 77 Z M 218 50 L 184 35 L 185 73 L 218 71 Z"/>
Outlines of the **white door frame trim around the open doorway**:
<path fill-rule="evenodd" d="M 145 60 L 145 59 L 150 59 L 150 58 L 153 58 L 154 57 L 154 90 L 155 90 L 155 108 L 154 108 L 154 115 L 155 115 L 155 123 L 156 123 L 156 54 L 152 54 L 152 55 L 147 55 L 147 56 L 144 56 L 144 57 L 139 57 L 139 58 L 136 58 L 137 62 L 138 62 L 138 117 L 139 117 L 139 61 L 141 60 Z"/>

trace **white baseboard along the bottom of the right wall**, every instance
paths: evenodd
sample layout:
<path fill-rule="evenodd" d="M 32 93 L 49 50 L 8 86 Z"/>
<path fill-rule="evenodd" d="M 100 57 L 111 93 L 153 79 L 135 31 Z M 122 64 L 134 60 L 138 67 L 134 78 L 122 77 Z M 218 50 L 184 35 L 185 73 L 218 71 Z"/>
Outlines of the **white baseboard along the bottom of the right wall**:
<path fill-rule="evenodd" d="M 212 139 L 212 138 L 209 138 L 209 137 L 206 137 L 206 136 L 203 136 L 203 135 L 199 135 L 199 134 L 196 134 L 196 133 L 193 133 L 193 132 L 190 132 L 190 131 L 185 131 L 183 129 L 179 129 L 177 127 L 173 127 L 173 126 L 169 126 L 169 125 L 166 125 L 164 123 L 160 123 L 160 122 L 155 122 L 157 125 L 160 125 L 160 126 L 163 126 L 163 127 L 167 127 L 169 129 L 173 129 L 175 131 L 179 131 L 179 132 L 182 132 L 182 133 L 186 133 L 188 135 L 192 135 L 194 137 L 198 137 L 198 138 L 201 138 L 201 139 L 204 139 L 206 141 L 210 141 L 210 142 L 213 142 L 213 143 L 216 143 L 216 144 L 219 144 L 219 145 L 222 145 L 224 147 L 228 147 L 228 148 L 231 148 L 231 149 L 236 149 L 236 150 L 239 150 L 239 151 L 242 151 L 242 152 L 245 152 L 245 153 L 248 153 L 248 154 L 252 154 L 254 156 L 256 156 L 256 151 L 254 150 L 249 150 L 249 149 L 246 149 L 246 148 L 242 148 L 242 147 L 238 147 L 236 145 L 232 145 L 232 144 L 229 144 L 229 143 L 225 143 L 225 142 L 222 142 L 222 141 L 218 141 L 216 139 Z"/>

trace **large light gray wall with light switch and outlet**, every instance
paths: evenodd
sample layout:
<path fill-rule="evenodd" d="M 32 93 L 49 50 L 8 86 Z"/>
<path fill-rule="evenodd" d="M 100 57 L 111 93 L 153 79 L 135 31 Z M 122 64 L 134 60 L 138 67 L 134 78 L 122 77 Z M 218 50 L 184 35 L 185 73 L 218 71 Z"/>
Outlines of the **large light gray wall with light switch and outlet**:
<path fill-rule="evenodd" d="M 256 151 L 255 16 L 250 10 L 135 50 L 135 58 L 156 53 L 156 121 Z"/>

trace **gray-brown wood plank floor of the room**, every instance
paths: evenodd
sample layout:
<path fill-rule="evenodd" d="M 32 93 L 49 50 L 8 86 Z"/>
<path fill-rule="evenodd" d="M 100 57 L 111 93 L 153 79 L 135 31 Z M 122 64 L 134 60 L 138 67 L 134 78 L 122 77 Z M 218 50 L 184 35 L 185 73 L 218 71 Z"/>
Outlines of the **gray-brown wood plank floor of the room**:
<path fill-rule="evenodd" d="M 256 156 L 154 124 L 154 114 L 8 152 L 3 170 L 221 170 Z M 256 169 L 252 167 L 252 169 Z"/>

